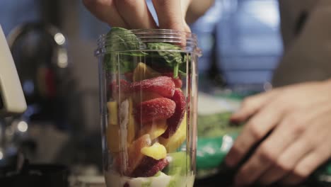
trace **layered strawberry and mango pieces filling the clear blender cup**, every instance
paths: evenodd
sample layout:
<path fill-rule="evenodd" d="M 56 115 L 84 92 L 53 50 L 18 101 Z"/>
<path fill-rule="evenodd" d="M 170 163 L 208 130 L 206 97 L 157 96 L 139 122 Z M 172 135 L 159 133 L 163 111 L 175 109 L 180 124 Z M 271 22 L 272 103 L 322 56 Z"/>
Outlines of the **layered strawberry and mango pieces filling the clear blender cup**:
<path fill-rule="evenodd" d="M 178 49 L 168 43 L 148 46 Z M 106 71 L 108 186 L 193 186 L 185 141 L 190 125 L 187 56 L 150 48 L 104 57 L 105 68 L 117 69 Z"/>

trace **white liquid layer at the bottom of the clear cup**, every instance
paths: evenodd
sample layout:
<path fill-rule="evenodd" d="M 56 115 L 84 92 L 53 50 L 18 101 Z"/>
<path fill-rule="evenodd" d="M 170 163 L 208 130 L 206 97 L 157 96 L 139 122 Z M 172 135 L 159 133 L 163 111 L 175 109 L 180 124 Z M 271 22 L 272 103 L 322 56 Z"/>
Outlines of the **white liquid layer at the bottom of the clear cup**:
<path fill-rule="evenodd" d="M 168 176 L 161 173 L 159 176 L 129 178 L 113 171 L 105 171 L 105 182 L 107 187 L 123 187 L 126 183 L 129 187 L 192 187 L 194 175 Z"/>

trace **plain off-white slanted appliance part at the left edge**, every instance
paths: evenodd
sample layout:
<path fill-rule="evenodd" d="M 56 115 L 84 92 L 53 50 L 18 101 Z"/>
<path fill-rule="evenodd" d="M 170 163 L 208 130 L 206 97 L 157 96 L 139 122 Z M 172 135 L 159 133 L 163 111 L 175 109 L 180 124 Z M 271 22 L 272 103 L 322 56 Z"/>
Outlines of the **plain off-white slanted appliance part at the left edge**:
<path fill-rule="evenodd" d="M 0 117 L 23 113 L 25 109 L 26 103 L 20 79 L 0 26 Z"/>

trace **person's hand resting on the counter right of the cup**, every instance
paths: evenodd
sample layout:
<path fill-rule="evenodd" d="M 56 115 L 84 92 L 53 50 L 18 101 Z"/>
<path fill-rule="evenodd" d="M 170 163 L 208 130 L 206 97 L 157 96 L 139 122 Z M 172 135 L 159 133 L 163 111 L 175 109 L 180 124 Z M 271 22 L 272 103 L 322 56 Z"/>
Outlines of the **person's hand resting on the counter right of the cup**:
<path fill-rule="evenodd" d="M 300 183 L 331 157 L 331 81 L 249 97 L 231 120 L 248 123 L 226 157 L 228 166 L 237 166 L 270 132 L 240 166 L 236 186 Z"/>

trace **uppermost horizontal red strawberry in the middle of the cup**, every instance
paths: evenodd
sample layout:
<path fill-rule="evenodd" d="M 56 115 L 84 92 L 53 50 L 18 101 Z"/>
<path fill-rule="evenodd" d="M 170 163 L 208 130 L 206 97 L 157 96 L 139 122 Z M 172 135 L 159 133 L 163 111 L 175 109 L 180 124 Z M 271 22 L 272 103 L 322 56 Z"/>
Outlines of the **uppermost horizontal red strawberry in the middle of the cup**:
<path fill-rule="evenodd" d="M 166 98 L 172 98 L 175 92 L 175 84 L 170 77 L 155 77 L 143 81 L 133 82 L 132 91 L 151 91 Z"/>

